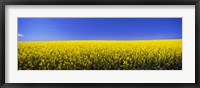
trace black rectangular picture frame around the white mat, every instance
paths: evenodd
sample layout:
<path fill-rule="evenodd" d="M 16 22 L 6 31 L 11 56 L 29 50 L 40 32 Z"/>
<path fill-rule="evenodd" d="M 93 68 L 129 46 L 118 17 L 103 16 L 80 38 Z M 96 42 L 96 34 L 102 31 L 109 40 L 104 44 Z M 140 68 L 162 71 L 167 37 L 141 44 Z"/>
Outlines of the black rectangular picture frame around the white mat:
<path fill-rule="evenodd" d="M 195 83 L 5 83 L 5 5 L 195 5 Z M 0 16 L 1 88 L 200 88 L 200 0 L 0 0 Z"/>

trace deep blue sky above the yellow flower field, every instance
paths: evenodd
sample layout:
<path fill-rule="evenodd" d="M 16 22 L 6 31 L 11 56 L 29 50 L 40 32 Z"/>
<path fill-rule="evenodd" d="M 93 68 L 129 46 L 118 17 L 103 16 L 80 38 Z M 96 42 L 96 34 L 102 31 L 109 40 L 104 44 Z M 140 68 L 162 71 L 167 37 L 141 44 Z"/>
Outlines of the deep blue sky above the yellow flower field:
<path fill-rule="evenodd" d="M 18 18 L 18 41 L 182 39 L 182 18 Z"/>

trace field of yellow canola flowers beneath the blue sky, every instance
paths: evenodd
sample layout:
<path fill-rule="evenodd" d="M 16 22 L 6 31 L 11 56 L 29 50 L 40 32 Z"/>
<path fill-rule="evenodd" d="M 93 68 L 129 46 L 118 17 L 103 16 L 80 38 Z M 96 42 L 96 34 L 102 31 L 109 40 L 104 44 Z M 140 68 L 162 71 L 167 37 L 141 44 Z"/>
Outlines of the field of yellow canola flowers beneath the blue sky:
<path fill-rule="evenodd" d="M 18 42 L 19 70 L 181 70 L 182 40 Z"/>

